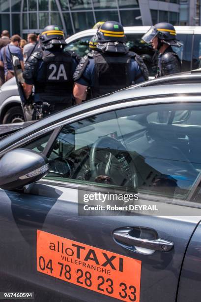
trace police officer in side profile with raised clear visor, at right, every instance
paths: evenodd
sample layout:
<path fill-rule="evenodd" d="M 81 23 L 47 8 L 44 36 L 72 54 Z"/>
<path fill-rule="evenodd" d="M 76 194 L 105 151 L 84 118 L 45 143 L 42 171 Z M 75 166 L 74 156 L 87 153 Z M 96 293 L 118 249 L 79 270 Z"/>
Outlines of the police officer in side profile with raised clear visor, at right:
<path fill-rule="evenodd" d="M 146 43 L 151 43 L 153 49 L 159 52 L 155 77 L 181 72 L 181 61 L 171 47 L 181 46 L 176 40 L 176 31 L 172 24 L 166 22 L 157 23 L 150 27 L 142 39 Z"/>

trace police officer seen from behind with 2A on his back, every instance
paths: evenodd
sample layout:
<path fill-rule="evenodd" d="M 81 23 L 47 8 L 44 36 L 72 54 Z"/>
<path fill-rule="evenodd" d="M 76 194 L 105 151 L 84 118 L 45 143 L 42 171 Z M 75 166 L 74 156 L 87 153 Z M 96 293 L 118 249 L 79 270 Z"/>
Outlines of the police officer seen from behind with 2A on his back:
<path fill-rule="evenodd" d="M 56 25 L 45 27 L 40 41 L 42 50 L 31 54 L 23 76 L 26 97 L 29 98 L 34 85 L 34 103 L 44 105 L 45 116 L 72 105 L 73 73 L 78 59 L 74 52 L 64 52 L 64 33 Z"/>

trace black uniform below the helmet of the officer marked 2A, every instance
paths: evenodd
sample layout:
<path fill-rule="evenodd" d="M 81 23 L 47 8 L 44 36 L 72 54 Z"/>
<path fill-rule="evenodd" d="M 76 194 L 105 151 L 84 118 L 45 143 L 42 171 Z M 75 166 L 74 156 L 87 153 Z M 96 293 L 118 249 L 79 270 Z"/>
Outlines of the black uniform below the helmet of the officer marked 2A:
<path fill-rule="evenodd" d="M 27 84 L 35 87 L 34 102 L 50 104 L 50 113 L 70 107 L 77 64 L 75 53 L 62 49 L 32 53 L 25 64 L 23 76 Z"/>

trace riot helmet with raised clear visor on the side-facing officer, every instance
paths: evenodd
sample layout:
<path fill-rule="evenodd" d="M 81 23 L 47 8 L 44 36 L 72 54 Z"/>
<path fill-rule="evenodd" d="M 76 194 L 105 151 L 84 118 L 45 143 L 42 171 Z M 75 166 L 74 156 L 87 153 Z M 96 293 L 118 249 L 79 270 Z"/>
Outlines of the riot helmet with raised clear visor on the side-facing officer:
<path fill-rule="evenodd" d="M 146 43 L 151 43 L 152 40 L 157 37 L 159 39 L 159 47 L 162 43 L 166 43 L 172 46 L 180 47 L 181 43 L 176 40 L 176 31 L 172 24 L 167 22 L 157 23 L 151 26 L 149 30 L 144 34 L 143 40 Z"/>

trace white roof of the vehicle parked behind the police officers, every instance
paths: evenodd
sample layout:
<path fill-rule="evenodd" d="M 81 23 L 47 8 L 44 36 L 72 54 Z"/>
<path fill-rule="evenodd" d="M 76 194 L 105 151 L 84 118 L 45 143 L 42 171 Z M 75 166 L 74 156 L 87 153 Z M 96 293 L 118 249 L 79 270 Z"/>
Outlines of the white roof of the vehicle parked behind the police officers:
<path fill-rule="evenodd" d="M 201 26 L 174 26 L 177 34 L 201 34 Z M 124 26 L 125 34 L 144 34 L 148 31 L 150 26 Z M 81 31 L 76 33 L 65 41 L 66 43 L 70 43 L 79 38 L 84 38 L 87 36 L 93 36 L 97 32 L 97 29 L 88 29 L 85 31 Z"/>

